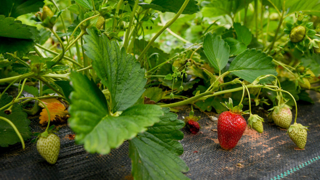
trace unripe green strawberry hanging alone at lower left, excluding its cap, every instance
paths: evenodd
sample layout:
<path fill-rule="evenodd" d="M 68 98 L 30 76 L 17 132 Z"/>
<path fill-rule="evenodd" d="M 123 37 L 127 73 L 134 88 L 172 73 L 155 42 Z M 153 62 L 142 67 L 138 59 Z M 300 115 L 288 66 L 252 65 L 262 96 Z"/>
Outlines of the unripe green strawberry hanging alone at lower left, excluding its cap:
<path fill-rule="evenodd" d="M 53 133 L 48 134 L 47 137 L 39 136 L 37 150 L 48 163 L 56 163 L 60 151 L 60 138 Z"/>

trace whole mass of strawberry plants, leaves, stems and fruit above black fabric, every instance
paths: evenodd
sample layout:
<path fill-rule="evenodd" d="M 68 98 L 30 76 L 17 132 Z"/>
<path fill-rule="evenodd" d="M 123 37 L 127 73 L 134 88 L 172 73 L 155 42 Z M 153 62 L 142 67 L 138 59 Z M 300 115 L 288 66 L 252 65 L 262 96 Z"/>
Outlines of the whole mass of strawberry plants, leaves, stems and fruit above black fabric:
<path fill-rule="evenodd" d="M 319 12 L 314 0 L 4 0 L 0 146 L 24 149 L 27 116 L 39 114 L 46 129 L 34 141 L 51 164 L 60 140 L 50 124 L 67 122 L 90 153 L 128 141 L 134 179 L 188 179 L 180 129 L 203 128 L 195 108 L 221 113 L 222 149 L 272 120 L 304 149 L 297 101 L 320 92 Z"/>

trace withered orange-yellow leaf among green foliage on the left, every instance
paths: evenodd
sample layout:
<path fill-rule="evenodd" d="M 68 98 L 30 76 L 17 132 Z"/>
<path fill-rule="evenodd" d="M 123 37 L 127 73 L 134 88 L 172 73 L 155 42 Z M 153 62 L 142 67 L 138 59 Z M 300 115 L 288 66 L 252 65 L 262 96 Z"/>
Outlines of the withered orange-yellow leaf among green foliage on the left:
<path fill-rule="evenodd" d="M 66 107 L 61 102 L 51 102 L 47 105 L 47 108 L 50 112 L 51 121 L 64 122 L 69 117 L 68 111 L 65 110 Z M 40 124 L 46 124 L 48 122 L 48 112 L 45 108 L 42 109 L 39 119 Z"/>

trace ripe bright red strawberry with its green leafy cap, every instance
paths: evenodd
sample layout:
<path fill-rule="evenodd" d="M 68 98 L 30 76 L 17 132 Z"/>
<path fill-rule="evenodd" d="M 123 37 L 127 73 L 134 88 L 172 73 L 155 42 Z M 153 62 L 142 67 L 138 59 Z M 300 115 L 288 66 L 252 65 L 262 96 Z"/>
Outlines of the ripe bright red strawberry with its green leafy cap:
<path fill-rule="evenodd" d="M 229 102 L 222 103 L 222 105 L 227 107 L 229 111 L 222 112 L 219 116 L 218 140 L 222 149 L 230 150 L 237 145 L 247 127 L 247 123 L 242 117 L 247 113 L 242 111 L 242 104 L 233 107 L 231 98 L 229 98 Z"/>

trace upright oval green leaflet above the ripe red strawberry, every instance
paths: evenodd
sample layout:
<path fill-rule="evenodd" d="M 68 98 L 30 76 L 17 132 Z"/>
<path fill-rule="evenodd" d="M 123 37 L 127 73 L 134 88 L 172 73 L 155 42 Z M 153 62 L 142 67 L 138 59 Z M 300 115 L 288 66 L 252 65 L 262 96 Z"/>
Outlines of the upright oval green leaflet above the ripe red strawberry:
<path fill-rule="evenodd" d="M 222 70 L 228 63 L 230 48 L 220 36 L 208 33 L 203 41 L 204 53 L 214 68 Z"/>

